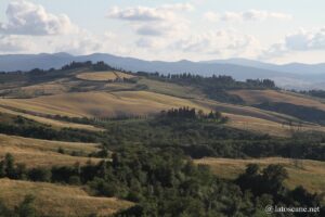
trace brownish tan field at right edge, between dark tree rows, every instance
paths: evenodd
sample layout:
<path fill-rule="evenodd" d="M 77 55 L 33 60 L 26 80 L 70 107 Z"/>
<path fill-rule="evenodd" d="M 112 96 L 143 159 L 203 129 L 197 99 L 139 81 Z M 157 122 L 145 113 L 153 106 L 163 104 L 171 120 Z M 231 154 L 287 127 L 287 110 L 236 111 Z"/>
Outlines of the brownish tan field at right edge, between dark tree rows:
<path fill-rule="evenodd" d="M 234 90 L 229 91 L 232 94 L 239 95 L 249 104 L 259 104 L 263 102 L 285 102 L 296 105 L 311 106 L 325 111 L 325 104 L 298 94 L 289 94 L 286 91 L 275 90 Z"/>

